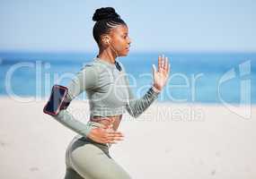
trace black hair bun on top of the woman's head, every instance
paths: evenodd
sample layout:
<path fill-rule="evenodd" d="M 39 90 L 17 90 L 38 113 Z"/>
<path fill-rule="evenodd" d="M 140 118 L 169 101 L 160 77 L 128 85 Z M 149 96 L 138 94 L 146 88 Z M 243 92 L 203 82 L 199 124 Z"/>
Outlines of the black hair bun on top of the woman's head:
<path fill-rule="evenodd" d="M 105 19 L 120 18 L 113 7 L 102 7 L 97 9 L 93 14 L 93 21 L 101 21 Z"/>

